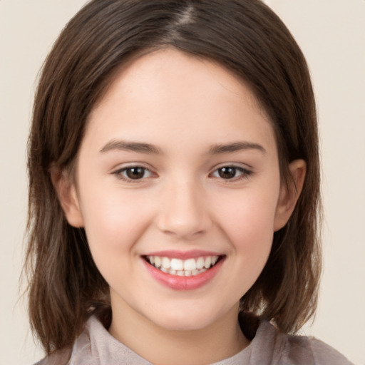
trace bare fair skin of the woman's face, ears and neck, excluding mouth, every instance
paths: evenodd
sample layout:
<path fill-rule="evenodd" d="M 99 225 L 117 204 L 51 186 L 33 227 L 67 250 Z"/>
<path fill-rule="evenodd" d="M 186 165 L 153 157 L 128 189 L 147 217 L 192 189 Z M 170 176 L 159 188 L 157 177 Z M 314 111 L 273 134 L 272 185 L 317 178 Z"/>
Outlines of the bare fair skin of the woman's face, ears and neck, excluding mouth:
<path fill-rule="evenodd" d="M 212 151 L 232 143 L 245 148 Z M 135 166 L 144 175 L 132 180 L 125 168 Z M 235 167 L 234 176 L 222 178 L 223 167 Z M 85 227 L 110 285 L 110 334 L 154 364 L 207 364 L 244 349 L 239 300 L 304 180 L 304 161 L 289 168 L 297 190 L 280 183 L 267 116 L 225 68 L 173 49 L 124 67 L 90 115 L 76 176 L 54 179 L 68 222 Z M 178 290 L 145 268 L 142 256 L 160 250 L 225 259 L 202 287 Z"/>

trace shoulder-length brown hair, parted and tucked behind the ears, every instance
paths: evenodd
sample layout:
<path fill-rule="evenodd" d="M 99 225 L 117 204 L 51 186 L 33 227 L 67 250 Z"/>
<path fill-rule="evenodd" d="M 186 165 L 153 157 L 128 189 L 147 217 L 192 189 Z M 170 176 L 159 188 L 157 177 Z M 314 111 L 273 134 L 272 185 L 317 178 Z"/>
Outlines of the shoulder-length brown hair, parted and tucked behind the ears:
<path fill-rule="evenodd" d="M 274 233 L 240 309 L 297 331 L 314 314 L 320 273 L 317 117 L 307 63 L 258 0 L 93 0 L 63 29 L 43 65 L 29 137 L 29 316 L 48 354 L 71 346 L 91 314 L 110 322 L 108 284 L 84 230 L 68 225 L 51 168 L 69 169 L 88 115 L 126 60 L 165 47 L 207 58 L 249 86 L 274 127 L 282 182 L 307 163 L 289 222 Z"/>

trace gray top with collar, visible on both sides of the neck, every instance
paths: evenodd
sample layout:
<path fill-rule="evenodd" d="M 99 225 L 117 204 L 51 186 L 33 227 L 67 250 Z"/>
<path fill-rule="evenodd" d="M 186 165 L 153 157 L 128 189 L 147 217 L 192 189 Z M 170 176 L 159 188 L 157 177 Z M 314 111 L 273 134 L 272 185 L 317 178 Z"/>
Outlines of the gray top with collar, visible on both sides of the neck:
<path fill-rule="evenodd" d="M 109 334 L 91 317 L 72 350 L 49 356 L 35 365 L 151 365 Z M 212 365 L 351 365 L 331 346 L 307 336 L 282 334 L 269 322 L 259 324 L 249 346 L 235 356 Z"/>

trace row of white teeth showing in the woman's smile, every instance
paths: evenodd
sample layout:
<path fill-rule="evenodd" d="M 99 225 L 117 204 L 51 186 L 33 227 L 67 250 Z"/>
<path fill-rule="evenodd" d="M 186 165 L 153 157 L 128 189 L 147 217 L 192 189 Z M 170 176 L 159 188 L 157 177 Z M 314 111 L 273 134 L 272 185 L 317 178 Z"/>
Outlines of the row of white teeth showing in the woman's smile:
<path fill-rule="evenodd" d="M 160 256 L 148 256 L 150 264 L 153 264 L 156 268 L 162 272 L 166 272 L 171 275 L 178 276 L 194 276 L 207 271 L 210 267 L 214 266 L 219 257 L 218 256 L 205 256 L 197 257 L 196 259 L 169 259 L 168 257 Z"/>

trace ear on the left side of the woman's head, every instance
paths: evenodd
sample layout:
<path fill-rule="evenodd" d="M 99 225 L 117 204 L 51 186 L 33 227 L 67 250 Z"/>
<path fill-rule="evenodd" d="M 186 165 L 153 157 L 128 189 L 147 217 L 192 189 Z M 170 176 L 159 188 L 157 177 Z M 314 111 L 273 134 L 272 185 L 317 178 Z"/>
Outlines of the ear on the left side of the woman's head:
<path fill-rule="evenodd" d="M 83 227 L 83 216 L 74 179 L 65 170 L 51 168 L 51 180 L 68 223 L 73 227 Z"/>

